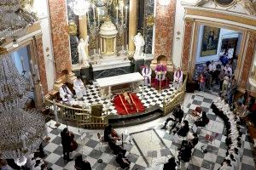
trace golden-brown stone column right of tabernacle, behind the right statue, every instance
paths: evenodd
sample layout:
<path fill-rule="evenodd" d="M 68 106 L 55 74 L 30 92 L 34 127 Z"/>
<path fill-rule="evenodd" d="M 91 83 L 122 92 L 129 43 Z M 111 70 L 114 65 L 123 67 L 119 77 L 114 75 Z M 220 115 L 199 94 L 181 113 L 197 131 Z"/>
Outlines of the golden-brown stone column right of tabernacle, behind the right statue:
<path fill-rule="evenodd" d="M 129 52 L 135 50 L 132 38 L 137 34 L 137 1 L 130 1 L 129 7 Z"/>

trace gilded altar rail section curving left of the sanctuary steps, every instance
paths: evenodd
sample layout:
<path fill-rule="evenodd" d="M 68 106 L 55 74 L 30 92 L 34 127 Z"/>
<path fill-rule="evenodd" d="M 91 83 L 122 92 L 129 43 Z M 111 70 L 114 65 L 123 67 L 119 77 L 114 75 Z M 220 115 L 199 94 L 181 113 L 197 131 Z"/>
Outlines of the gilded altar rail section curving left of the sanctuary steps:
<path fill-rule="evenodd" d="M 52 99 L 45 99 L 45 106 L 49 108 L 49 111 L 54 112 Z M 59 103 L 56 103 L 56 106 L 58 108 L 58 116 L 63 120 L 76 123 L 77 127 L 103 128 L 108 125 L 108 116 L 93 116 L 90 114 L 90 110 L 70 107 Z"/>

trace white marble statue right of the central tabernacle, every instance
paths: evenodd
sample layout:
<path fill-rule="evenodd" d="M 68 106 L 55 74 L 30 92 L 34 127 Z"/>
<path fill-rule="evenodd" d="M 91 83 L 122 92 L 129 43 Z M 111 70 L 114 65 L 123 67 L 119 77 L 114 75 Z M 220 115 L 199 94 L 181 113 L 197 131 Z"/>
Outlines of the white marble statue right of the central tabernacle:
<path fill-rule="evenodd" d="M 135 44 L 135 53 L 133 55 L 134 59 L 139 59 L 143 57 L 143 47 L 145 45 L 144 38 L 140 32 L 137 33 L 135 37 L 133 37 L 133 42 Z"/>

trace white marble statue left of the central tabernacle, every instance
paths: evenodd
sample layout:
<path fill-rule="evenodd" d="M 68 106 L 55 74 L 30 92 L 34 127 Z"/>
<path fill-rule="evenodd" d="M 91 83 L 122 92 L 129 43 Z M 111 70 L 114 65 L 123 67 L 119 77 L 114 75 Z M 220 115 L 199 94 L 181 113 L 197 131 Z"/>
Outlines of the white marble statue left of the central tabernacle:
<path fill-rule="evenodd" d="M 89 66 L 88 56 L 85 51 L 85 47 L 88 46 L 89 36 L 86 37 L 85 41 L 83 38 L 80 39 L 78 45 L 79 52 L 79 65 Z"/>

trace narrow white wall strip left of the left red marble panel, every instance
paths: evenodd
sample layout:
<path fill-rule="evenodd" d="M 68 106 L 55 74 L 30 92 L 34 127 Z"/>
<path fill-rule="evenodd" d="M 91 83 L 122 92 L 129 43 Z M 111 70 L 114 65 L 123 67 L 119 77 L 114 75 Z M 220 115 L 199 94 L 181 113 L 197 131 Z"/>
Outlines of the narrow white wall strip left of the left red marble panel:
<path fill-rule="evenodd" d="M 44 64 L 46 70 L 48 90 L 51 90 L 53 89 L 53 84 L 55 82 L 55 66 L 51 42 L 48 0 L 35 0 L 33 7 L 35 8 L 38 14 L 43 32 L 42 39 L 44 47 Z M 46 48 L 49 48 L 48 52 L 46 51 Z"/>

